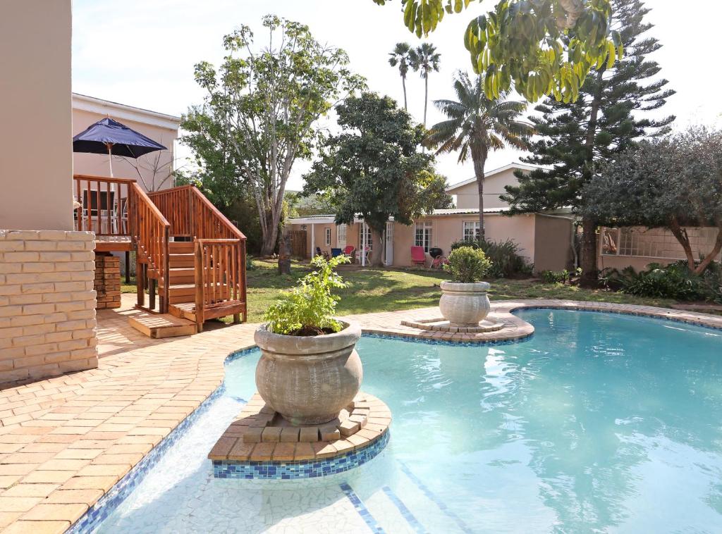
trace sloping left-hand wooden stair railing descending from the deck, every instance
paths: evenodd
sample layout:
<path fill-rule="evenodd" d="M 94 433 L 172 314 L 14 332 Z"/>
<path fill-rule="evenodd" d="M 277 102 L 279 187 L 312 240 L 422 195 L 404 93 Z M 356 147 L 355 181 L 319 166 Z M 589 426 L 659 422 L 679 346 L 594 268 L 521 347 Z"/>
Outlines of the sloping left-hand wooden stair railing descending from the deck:
<path fill-rule="evenodd" d="M 168 312 L 170 273 L 168 270 L 168 242 L 170 223 L 155 206 L 138 184 L 130 186 L 129 201 L 134 207 L 130 211 L 131 237 L 136 242 L 136 281 L 138 284 L 138 305 L 145 307 L 144 288 L 149 289 L 149 309 L 155 308 L 155 284 L 160 290 L 160 312 Z M 141 263 L 147 265 L 146 271 Z M 148 272 L 152 271 L 152 276 Z"/>

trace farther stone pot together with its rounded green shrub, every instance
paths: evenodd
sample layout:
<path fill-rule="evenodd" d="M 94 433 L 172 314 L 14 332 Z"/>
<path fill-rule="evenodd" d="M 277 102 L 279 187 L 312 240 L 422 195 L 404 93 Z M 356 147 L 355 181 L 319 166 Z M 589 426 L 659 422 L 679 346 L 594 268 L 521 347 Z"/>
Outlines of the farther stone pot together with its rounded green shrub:
<path fill-rule="evenodd" d="M 441 315 L 452 326 L 477 326 L 489 314 L 489 284 L 480 281 L 492 266 L 480 248 L 460 247 L 451 251 L 444 270 L 452 281 L 441 282 Z"/>

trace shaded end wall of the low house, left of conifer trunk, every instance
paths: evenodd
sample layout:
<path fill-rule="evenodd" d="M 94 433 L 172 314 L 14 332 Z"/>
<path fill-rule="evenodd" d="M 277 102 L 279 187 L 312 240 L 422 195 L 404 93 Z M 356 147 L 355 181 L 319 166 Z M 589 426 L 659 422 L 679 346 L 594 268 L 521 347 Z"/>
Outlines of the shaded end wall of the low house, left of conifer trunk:
<path fill-rule="evenodd" d="M 571 268 L 573 226 L 569 219 L 534 216 L 534 272 Z"/>

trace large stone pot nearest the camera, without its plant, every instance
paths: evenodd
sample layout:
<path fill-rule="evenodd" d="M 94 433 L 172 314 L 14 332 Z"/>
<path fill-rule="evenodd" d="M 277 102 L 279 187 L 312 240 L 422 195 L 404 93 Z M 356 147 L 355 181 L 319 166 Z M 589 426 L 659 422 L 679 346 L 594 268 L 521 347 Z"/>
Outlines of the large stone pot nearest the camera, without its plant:
<path fill-rule="evenodd" d="M 256 330 L 256 388 L 292 424 L 331 421 L 358 393 L 363 371 L 355 346 L 361 327 L 343 324 L 342 331 L 326 336 L 282 336 L 266 325 Z"/>

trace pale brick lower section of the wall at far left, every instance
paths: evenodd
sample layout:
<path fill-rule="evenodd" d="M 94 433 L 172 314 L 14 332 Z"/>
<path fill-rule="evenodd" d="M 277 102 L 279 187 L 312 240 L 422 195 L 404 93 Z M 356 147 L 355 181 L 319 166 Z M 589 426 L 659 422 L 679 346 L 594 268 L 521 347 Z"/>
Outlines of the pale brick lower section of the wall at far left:
<path fill-rule="evenodd" d="M 0 230 L 0 384 L 97 367 L 91 232 Z"/>

